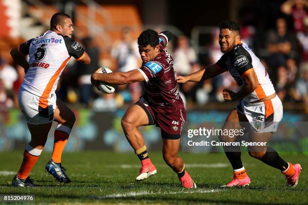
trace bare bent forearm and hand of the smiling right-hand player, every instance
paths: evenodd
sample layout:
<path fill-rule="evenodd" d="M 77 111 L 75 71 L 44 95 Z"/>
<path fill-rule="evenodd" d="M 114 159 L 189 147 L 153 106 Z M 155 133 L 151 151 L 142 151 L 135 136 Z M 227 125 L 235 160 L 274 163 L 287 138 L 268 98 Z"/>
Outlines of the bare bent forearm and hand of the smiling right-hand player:
<path fill-rule="evenodd" d="M 244 80 L 244 85 L 242 86 L 242 89 L 239 92 L 235 93 L 231 90 L 223 89 L 222 94 L 224 100 L 233 101 L 237 99 L 243 99 L 257 88 L 258 77 L 255 71 L 247 73 L 242 78 Z"/>

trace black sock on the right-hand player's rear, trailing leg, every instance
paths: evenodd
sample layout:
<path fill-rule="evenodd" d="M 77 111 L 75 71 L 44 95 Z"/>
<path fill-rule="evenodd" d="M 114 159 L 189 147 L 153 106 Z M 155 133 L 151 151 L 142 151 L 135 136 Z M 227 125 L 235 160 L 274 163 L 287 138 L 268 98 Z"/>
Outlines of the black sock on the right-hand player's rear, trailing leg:
<path fill-rule="evenodd" d="M 288 163 L 284 161 L 278 153 L 271 147 L 267 147 L 265 155 L 261 159 L 262 162 L 264 162 L 267 165 L 270 165 L 271 167 L 275 167 L 277 169 L 280 169 L 281 171 L 284 171 L 288 168 Z"/>

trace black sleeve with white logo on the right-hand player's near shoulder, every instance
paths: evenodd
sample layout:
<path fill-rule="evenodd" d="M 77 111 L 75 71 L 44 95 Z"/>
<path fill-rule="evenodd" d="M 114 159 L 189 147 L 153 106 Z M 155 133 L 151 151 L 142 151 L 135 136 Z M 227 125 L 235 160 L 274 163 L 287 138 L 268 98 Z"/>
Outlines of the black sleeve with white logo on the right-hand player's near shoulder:
<path fill-rule="evenodd" d="M 242 45 L 237 46 L 237 48 L 230 53 L 230 58 L 233 67 L 235 67 L 240 75 L 243 75 L 245 71 L 253 68 L 251 55 Z"/>

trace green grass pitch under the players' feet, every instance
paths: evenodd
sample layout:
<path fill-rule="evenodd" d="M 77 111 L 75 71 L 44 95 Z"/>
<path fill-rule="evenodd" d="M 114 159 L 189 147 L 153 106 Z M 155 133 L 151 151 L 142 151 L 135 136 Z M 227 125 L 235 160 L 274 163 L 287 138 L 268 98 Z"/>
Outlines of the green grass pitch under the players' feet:
<path fill-rule="evenodd" d="M 215 204 L 308 204 L 307 156 L 281 154 L 298 162 L 303 170 L 296 188 L 285 186 L 279 170 L 243 154 L 244 166 L 252 180 L 249 187 L 220 188 L 232 177 L 224 153 L 181 153 L 186 170 L 197 189 L 184 189 L 177 175 L 165 164 L 160 152 L 149 153 L 158 174 L 135 182 L 140 162 L 133 153 L 87 151 L 64 153 L 62 165 L 72 182 L 58 183 L 45 172 L 50 153 L 43 152 L 31 173 L 37 187 L 12 187 L 23 151 L 0 153 L 0 193 L 35 194 L 41 203 L 215 203 Z"/>

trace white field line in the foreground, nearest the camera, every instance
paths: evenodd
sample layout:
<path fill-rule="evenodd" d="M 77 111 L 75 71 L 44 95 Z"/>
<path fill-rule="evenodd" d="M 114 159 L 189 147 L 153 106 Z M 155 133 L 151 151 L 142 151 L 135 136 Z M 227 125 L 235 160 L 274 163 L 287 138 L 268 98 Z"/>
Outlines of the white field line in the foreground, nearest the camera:
<path fill-rule="evenodd" d="M 140 196 L 140 195 L 162 195 L 162 194 L 178 194 L 178 193 L 214 193 L 218 192 L 220 190 L 218 189 L 204 189 L 204 188 L 197 188 L 197 189 L 191 189 L 191 190 L 185 190 L 185 191 L 131 191 L 127 193 L 113 193 L 106 196 L 96 196 L 96 198 L 125 198 L 125 197 L 131 197 L 131 196 Z"/>

